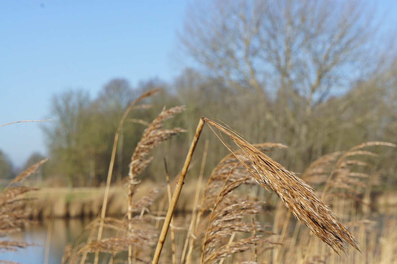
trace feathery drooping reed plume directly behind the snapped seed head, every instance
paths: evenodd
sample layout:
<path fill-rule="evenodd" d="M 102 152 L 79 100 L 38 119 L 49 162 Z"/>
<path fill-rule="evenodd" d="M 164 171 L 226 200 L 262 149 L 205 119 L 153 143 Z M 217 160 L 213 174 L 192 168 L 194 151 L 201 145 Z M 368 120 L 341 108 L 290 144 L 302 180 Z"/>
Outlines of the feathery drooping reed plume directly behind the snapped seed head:
<path fill-rule="evenodd" d="M 257 144 L 258 150 L 268 150 L 273 147 L 285 147 L 281 144 Z M 238 157 L 238 158 L 236 158 Z M 225 256 L 258 247 L 258 243 L 266 243 L 267 249 L 277 243 L 270 237 L 264 238 L 258 233 L 273 235 L 268 231 L 269 226 L 264 226 L 254 221 L 254 215 L 262 213 L 263 202 L 247 200 L 233 191 L 239 186 L 252 185 L 252 175 L 245 170 L 242 163 L 250 164 L 240 152 L 233 152 L 222 159 L 212 171 L 204 190 L 201 213 L 210 210 L 208 227 L 202 245 L 201 263 L 214 263 Z M 251 222 L 243 221 L 245 216 L 251 215 Z M 248 238 L 243 233 L 251 233 Z M 225 239 L 229 237 L 229 241 Z M 237 237 L 236 241 L 233 241 Z M 245 256 L 247 258 L 247 256 Z M 254 257 L 256 258 L 256 257 Z M 222 260 L 221 260 L 222 261 Z M 252 262 L 256 263 L 256 262 Z"/>

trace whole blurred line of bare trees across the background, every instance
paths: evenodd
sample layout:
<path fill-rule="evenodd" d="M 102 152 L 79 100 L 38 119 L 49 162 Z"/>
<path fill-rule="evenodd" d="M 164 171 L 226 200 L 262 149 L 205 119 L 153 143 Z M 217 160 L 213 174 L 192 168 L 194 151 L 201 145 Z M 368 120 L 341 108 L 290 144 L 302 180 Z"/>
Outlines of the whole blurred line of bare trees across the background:
<path fill-rule="evenodd" d="M 395 29 L 363 1 L 197 1 L 189 6 L 174 59 L 186 67 L 171 82 L 131 87 L 113 79 L 96 98 L 87 91 L 56 94 L 43 126 L 48 173 L 69 185 L 98 185 L 108 170 L 114 133 L 129 103 L 161 89 L 131 112 L 121 131 L 114 180 L 125 177 L 133 149 L 164 106 L 186 105 L 168 121 L 187 133 L 153 155 L 178 173 L 200 116 L 216 118 L 251 143 L 277 142 L 271 155 L 295 172 L 320 156 L 366 141 L 397 143 L 397 49 Z M 208 168 L 227 153 L 214 135 Z M 198 154 L 203 149 L 198 147 Z M 394 150 L 384 150 L 385 175 L 395 172 Z M 155 162 L 149 179 L 164 175 Z M 380 164 L 381 166 L 381 164 Z"/>

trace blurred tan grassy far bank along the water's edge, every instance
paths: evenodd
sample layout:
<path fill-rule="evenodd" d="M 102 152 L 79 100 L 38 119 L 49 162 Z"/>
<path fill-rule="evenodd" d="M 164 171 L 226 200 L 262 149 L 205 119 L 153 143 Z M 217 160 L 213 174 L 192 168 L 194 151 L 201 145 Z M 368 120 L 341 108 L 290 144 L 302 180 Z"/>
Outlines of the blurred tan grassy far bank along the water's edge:
<path fill-rule="evenodd" d="M 203 189 L 204 186 L 202 186 Z M 144 195 L 158 188 L 159 192 L 150 207 L 152 211 L 166 211 L 168 197 L 166 187 L 156 187 L 155 183 L 142 183 L 135 195 L 138 200 Z M 177 212 L 191 212 L 194 206 L 194 197 L 197 183 L 186 184 L 177 203 Z M 96 217 L 102 208 L 104 188 L 41 188 L 25 195 L 30 198 L 26 208 L 31 210 L 32 219 L 43 218 L 76 218 Z M 267 206 L 272 207 L 272 201 L 267 199 Z M 387 214 L 395 212 L 397 208 L 397 194 L 383 193 L 372 197 L 370 201 L 372 210 Z M 107 216 L 123 216 L 127 212 L 127 190 L 125 187 L 111 187 L 109 192 Z"/>

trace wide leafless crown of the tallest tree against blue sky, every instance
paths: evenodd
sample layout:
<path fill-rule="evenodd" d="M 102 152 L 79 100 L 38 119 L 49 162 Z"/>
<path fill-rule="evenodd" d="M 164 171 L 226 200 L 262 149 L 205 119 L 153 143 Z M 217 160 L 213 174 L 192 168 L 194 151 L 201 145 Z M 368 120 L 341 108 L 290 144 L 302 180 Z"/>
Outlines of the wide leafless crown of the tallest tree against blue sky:
<path fill-rule="evenodd" d="M 379 23 L 364 1 L 205 3 L 189 8 L 181 46 L 234 88 L 244 82 L 258 95 L 267 86 L 296 102 L 304 99 L 310 110 L 343 81 L 362 78 L 362 67 L 381 62 L 372 45 Z"/>

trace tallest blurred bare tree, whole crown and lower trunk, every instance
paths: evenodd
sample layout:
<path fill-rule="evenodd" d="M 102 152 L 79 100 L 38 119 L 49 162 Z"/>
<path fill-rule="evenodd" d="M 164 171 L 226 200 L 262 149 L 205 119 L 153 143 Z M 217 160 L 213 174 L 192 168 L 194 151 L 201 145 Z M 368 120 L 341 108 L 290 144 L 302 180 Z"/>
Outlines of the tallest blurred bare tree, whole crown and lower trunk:
<path fill-rule="evenodd" d="M 198 1 L 179 40 L 200 69 L 250 100 L 258 140 L 291 146 L 288 165 L 313 148 L 302 143 L 318 129 L 317 108 L 395 54 L 379 45 L 382 21 L 372 10 L 364 0 Z"/>

